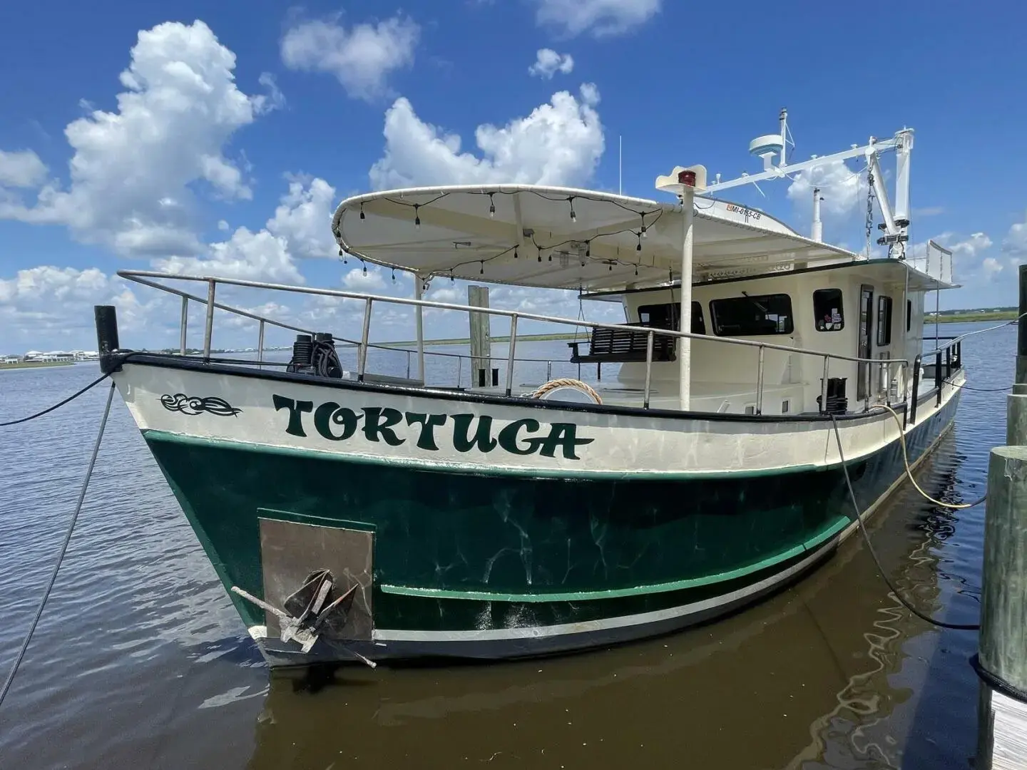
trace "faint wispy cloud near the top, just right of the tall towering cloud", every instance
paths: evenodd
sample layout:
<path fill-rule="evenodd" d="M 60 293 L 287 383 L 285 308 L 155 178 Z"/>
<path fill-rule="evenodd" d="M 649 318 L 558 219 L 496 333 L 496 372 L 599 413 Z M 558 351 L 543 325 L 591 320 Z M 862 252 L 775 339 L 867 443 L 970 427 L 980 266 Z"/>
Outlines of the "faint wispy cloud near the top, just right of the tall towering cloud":
<path fill-rule="evenodd" d="M 334 75 L 355 99 L 387 92 L 390 73 L 414 62 L 420 27 L 395 15 L 377 24 L 346 29 L 339 18 L 299 24 L 281 39 L 281 61 L 293 70 Z"/>

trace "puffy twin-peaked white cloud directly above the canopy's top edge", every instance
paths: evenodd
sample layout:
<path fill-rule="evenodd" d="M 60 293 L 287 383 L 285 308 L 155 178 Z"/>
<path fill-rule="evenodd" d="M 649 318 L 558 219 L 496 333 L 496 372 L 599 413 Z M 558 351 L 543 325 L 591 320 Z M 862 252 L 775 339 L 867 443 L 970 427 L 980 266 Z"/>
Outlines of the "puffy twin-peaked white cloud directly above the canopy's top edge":
<path fill-rule="evenodd" d="M 603 154 L 598 102 L 599 89 L 586 83 L 578 97 L 558 91 L 505 126 L 480 125 L 476 155 L 461 152 L 459 136 L 424 122 L 407 99 L 397 99 L 385 113 L 385 152 L 371 167 L 371 184 L 379 190 L 490 182 L 579 185 Z"/>

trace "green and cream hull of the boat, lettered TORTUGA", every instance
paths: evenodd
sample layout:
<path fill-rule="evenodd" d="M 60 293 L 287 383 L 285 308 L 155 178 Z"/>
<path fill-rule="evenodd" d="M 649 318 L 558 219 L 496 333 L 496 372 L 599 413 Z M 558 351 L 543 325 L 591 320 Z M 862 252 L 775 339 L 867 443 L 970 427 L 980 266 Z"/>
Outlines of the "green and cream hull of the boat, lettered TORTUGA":
<path fill-rule="evenodd" d="M 855 528 L 816 416 L 526 407 L 186 361 L 126 362 L 114 379 L 271 665 L 654 636 L 779 589 Z M 921 396 L 911 462 L 958 395 Z M 890 415 L 838 426 L 866 515 L 903 480 L 899 429 Z M 355 601 L 307 652 L 231 591 L 280 608 L 319 570 Z"/>

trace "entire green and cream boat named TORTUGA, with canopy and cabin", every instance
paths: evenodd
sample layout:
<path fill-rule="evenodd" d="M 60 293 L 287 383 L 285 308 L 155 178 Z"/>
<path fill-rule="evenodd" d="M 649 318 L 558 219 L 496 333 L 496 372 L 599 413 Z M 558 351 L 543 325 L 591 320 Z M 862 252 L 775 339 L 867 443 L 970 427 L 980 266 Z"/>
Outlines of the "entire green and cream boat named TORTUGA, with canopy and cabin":
<path fill-rule="evenodd" d="M 120 349 L 99 311 L 102 363 L 272 665 L 672 631 L 781 588 L 854 531 L 842 454 L 864 514 L 902 483 L 903 440 L 912 464 L 929 452 L 964 380 L 958 341 L 922 352 L 925 295 L 954 284 L 944 249 L 906 255 L 912 131 L 791 164 L 784 134 L 754 142 L 762 174 L 708 185 L 700 166 L 676 168 L 657 180 L 667 201 L 518 184 L 343 201 L 340 248 L 414 273 L 415 299 L 120 273 L 182 297 L 183 353 L 188 307 L 206 305 L 202 355 Z M 886 258 L 719 198 L 839 157 L 876 180 Z M 620 303 L 624 322 L 422 299 L 449 278 L 578 290 Z M 363 324 L 291 326 L 226 305 L 224 286 L 356 300 Z M 383 306 L 417 314 L 409 375 L 369 365 Z M 258 360 L 211 354 L 215 308 L 257 319 Z M 422 321 L 438 311 L 508 325 L 495 378 L 425 377 Z M 568 355 L 605 376 L 526 380 L 528 321 L 586 328 Z M 267 324 L 298 333 L 289 367 L 264 359 Z M 352 365 L 334 344 L 347 339 Z"/>

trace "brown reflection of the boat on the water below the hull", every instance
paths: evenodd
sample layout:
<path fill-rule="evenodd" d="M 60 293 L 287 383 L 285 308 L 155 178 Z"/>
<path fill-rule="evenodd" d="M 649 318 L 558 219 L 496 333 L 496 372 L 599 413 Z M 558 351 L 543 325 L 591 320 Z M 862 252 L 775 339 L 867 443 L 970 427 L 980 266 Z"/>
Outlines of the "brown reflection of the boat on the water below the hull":
<path fill-rule="evenodd" d="M 954 478 L 952 445 L 918 472 L 930 491 Z M 945 527 L 928 522 L 946 514 L 918 500 L 900 495 L 871 531 L 892 579 L 935 611 Z M 938 634 L 875 570 L 853 539 L 769 602 L 672 637 L 541 661 L 276 675 L 249 767 L 899 767 Z"/>

